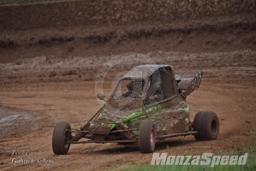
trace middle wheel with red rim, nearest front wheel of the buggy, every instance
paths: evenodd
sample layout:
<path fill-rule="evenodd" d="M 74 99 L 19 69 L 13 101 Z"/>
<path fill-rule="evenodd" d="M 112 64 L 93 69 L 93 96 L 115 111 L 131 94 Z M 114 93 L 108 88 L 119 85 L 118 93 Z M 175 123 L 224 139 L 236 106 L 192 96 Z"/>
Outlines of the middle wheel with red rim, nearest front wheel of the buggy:
<path fill-rule="evenodd" d="M 141 153 L 150 153 L 155 150 L 156 135 L 156 127 L 152 121 L 146 120 L 140 123 L 139 144 Z"/>

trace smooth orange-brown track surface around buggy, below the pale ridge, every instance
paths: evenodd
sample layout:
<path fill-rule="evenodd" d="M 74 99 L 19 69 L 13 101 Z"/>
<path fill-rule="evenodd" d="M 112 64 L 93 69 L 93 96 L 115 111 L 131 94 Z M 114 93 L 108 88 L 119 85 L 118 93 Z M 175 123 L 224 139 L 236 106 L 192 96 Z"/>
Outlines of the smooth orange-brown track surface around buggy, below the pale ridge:
<path fill-rule="evenodd" d="M 200 110 L 215 111 L 220 121 L 220 134 L 217 140 L 199 142 L 193 136 L 168 139 L 164 143 L 157 144 L 157 152 L 195 155 L 203 152 L 239 150 L 243 145 L 255 142 L 256 127 L 253 122 L 256 120 L 254 113 L 256 69 L 242 67 L 246 62 L 254 62 L 255 65 L 255 60 L 252 61 L 248 53 L 255 52 L 242 52 L 245 55 L 245 63 L 240 62 L 241 66 L 238 67 L 206 68 L 204 65 L 207 63 L 204 60 L 199 63 L 200 68 L 205 68 L 205 79 L 199 90 L 188 97 L 188 105 L 191 108 L 190 119 L 193 121 L 193 116 Z M 186 56 L 187 54 L 184 54 L 184 58 Z M 205 58 L 211 60 L 212 56 L 216 59 L 214 54 L 210 53 Z M 221 60 L 234 64 L 232 56 L 235 54 L 223 57 Z M 189 57 L 184 58 L 179 59 L 181 62 L 189 60 Z M 193 66 L 193 60 L 191 62 Z M 169 64 L 176 66 L 175 63 Z M 234 74 L 238 71 L 239 74 Z M 191 73 L 191 70 L 179 68 L 176 72 Z M 122 72 L 114 71 L 110 73 L 110 77 L 120 77 L 120 74 Z M 21 74 L 23 77 L 26 75 Z M 137 144 L 131 146 L 74 144 L 68 155 L 55 156 L 51 150 L 51 134 L 55 123 L 68 121 L 71 127 L 79 128 L 103 104 L 98 102 L 95 96 L 96 91 L 100 91 L 96 86 L 97 81 L 82 80 L 76 74 L 65 76 L 57 74 L 55 77 L 60 78 L 51 80 L 51 77 L 47 76 L 48 81 L 31 82 L 27 77 L 24 77 L 23 81 L 20 77 L 2 79 L 1 170 L 47 170 L 48 168 L 62 170 L 63 166 L 66 170 L 80 170 L 85 167 L 86 170 L 94 170 L 150 163 L 152 154 L 141 154 Z M 68 78 L 61 80 L 62 77 Z M 115 85 L 113 82 L 116 80 L 106 79 L 104 82 L 104 93 L 107 97 L 110 95 L 112 85 Z M 11 156 L 13 150 L 27 151 L 28 154 Z M 53 160 L 53 163 L 16 163 L 16 166 L 13 166 L 13 158 L 47 158 Z"/>

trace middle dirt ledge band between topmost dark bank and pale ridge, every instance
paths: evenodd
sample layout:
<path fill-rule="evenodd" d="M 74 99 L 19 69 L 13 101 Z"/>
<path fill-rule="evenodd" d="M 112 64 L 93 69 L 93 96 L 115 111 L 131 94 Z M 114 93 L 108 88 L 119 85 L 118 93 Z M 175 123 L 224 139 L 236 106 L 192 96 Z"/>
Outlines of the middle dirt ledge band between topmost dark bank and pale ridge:
<path fill-rule="evenodd" d="M 205 18 L 188 22 L 146 23 L 113 27 L 65 27 L 5 30 L 0 36 L 0 62 L 35 56 L 111 56 L 154 50 L 205 52 L 254 50 L 255 15 Z M 85 58 L 87 60 L 87 58 Z"/>

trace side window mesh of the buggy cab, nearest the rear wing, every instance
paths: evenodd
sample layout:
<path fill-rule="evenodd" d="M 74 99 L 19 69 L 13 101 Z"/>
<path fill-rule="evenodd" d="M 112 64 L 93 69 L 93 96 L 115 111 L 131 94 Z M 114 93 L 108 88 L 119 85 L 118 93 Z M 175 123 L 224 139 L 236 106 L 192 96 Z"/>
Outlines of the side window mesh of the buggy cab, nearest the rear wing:
<path fill-rule="evenodd" d="M 177 83 L 170 68 L 159 68 L 149 79 L 146 104 L 157 103 L 177 95 Z"/>

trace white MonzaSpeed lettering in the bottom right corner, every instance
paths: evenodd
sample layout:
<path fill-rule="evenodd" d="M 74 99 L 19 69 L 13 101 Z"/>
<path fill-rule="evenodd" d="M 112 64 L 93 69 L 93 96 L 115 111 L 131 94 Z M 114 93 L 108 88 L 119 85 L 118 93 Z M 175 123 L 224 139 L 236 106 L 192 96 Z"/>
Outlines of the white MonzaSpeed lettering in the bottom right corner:
<path fill-rule="evenodd" d="M 153 153 L 151 165 L 245 165 L 248 153 L 242 156 L 220 156 L 203 153 L 201 156 L 168 156 L 168 153 Z"/>

